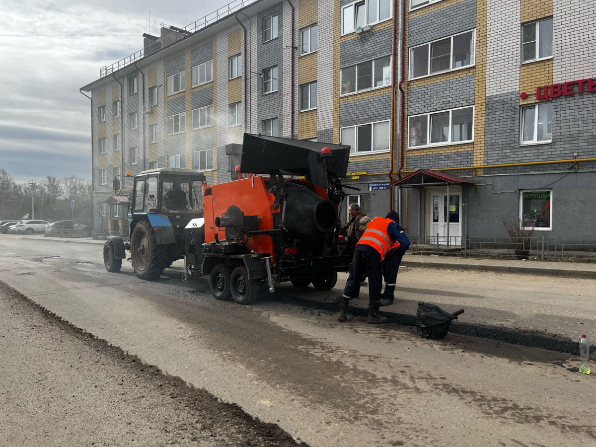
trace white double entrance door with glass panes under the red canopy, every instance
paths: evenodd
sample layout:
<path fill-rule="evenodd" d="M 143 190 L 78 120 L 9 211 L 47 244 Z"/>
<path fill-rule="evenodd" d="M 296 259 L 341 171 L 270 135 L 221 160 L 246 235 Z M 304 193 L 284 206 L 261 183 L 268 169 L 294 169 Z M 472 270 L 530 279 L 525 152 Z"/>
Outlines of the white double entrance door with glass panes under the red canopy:
<path fill-rule="evenodd" d="M 446 191 L 430 193 L 430 237 L 434 244 L 461 245 L 461 192 L 447 195 Z M 448 239 L 449 226 L 449 239 Z M 437 240 L 438 235 L 438 240 Z"/>

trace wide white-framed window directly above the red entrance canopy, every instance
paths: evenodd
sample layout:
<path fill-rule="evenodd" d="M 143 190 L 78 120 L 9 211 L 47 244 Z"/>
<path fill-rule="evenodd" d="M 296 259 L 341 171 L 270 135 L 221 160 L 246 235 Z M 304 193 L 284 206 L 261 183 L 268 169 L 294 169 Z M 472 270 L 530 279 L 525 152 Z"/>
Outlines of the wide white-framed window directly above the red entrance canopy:
<path fill-rule="evenodd" d="M 408 119 L 408 147 L 440 146 L 474 139 L 474 107 L 424 113 Z"/>

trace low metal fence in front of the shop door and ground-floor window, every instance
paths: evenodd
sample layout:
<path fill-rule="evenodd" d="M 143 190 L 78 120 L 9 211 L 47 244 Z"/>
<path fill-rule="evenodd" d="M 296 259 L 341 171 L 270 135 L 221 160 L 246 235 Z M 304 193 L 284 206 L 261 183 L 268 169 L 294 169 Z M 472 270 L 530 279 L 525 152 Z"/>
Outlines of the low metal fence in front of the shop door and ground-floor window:
<path fill-rule="evenodd" d="M 414 253 L 445 256 L 507 257 L 511 259 L 596 262 L 596 238 L 548 238 L 545 235 L 517 237 L 468 236 L 449 238 L 409 236 Z"/>

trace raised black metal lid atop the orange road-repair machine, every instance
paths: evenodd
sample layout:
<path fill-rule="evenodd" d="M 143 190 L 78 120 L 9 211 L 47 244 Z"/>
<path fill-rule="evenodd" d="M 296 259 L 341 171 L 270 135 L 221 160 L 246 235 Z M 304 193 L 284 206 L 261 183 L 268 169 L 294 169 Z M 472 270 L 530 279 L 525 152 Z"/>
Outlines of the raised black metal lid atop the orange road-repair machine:
<path fill-rule="evenodd" d="M 324 147 L 331 155 L 321 156 Z M 305 176 L 313 185 L 328 187 L 328 178 L 346 177 L 350 147 L 278 136 L 244 134 L 240 172 Z"/>

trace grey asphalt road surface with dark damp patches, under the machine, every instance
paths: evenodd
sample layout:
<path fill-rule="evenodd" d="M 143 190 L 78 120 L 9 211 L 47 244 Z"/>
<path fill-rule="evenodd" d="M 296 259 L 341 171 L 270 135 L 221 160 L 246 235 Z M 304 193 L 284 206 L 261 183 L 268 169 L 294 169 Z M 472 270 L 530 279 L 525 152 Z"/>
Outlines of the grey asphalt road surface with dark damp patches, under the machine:
<path fill-rule="evenodd" d="M 330 292 L 284 284 L 238 306 L 181 275 L 179 262 L 159 281 L 139 280 L 128 263 L 109 274 L 101 246 L 0 235 L 0 280 L 30 300 L 5 289 L 0 296 L 3 315 L 11 315 L 7 303 L 23 306 L 0 330 L 4 357 L 14 359 L 0 370 L 14 378 L 0 379 L 0 445 L 79 445 L 73 433 L 83 426 L 95 445 L 286 445 L 287 434 L 312 446 L 596 445 L 596 378 L 577 372 L 579 337 L 596 341 L 592 280 L 405 267 L 399 302 L 383 309 L 390 322 L 368 325 L 365 293 L 351 303 L 349 321 L 336 321 L 345 277 Z M 424 340 L 413 326 L 420 301 L 465 313 L 445 339 Z M 103 340 L 93 352 L 91 342 Z M 77 382 L 76 371 L 70 378 L 71 364 L 85 368 L 79 376 L 91 377 L 107 399 L 124 386 L 114 380 L 130 374 L 148 392 L 136 399 L 129 389 L 127 402 L 96 403 L 91 381 Z M 43 371 L 64 375 L 65 390 L 79 386 L 61 393 L 60 408 L 83 409 L 53 412 L 58 395 L 35 382 Z M 159 383 L 185 403 L 167 406 Z M 193 393 L 201 397 L 187 406 Z M 143 407 L 145 399 L 154 405 Z M 222 409 L 230 403 L 241 409 Z M 202 419 L 220 412 L 232 414 L 221 426 Z M 200 423 L 180 423 L 172 437 L 145 427 L 187 417 Z M 130 419 L 134 441 L 120 419 Z M 221 438 L 209 439 L 214 433 Z"/>

